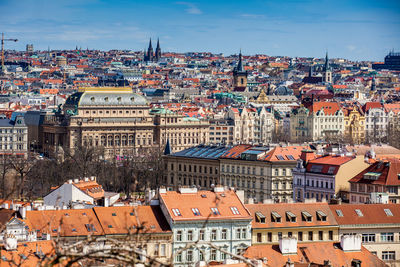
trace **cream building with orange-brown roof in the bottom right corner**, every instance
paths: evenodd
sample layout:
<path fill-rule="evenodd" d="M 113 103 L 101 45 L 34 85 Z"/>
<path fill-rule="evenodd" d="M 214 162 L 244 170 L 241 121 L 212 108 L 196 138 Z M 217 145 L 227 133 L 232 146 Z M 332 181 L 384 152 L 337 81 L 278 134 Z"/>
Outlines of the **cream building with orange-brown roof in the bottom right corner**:
<path fill-rule="evenodd" d="M 393 267 L 400 266 L 400 205 L 329 205 L 339 235 L 361 235 L 362 245 Z M 371 265 L 372 266 L 372 265 Z"/>

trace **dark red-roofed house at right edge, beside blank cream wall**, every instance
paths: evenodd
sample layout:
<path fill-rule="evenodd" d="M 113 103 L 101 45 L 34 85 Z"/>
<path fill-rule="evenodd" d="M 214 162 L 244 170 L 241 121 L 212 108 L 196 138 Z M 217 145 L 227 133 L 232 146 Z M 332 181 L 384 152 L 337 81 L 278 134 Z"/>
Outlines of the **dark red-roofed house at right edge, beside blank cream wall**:
<path fill-rule="evenodd" d="M 400 161 L 377 161 L 350 180 L 350 203 L 370 203 L 373 194 L 388 195 L 391 203 L 400 203 Z"/>

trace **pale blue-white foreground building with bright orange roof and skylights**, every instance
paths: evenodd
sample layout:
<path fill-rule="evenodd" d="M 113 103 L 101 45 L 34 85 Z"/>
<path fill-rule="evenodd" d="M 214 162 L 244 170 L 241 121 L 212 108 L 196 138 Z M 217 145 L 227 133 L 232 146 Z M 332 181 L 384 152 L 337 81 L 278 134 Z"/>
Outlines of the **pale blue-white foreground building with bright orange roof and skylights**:
<path fill-rule="evenodd" d="M 160 189 L 159 201 L 174 238 L 174 266 L 222 262 L 251 246 L 252 218 L 233 190 Z"/>

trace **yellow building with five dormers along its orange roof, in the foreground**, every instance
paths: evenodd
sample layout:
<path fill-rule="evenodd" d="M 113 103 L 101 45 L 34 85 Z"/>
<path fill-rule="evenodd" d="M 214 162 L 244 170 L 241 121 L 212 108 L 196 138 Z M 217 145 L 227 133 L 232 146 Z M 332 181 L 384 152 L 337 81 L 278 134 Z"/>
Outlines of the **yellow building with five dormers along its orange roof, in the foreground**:
<path fill-rule="evenodd" d="M 246 204 L 253 217 L 252 244 L 339 241 L 339 226 L 327 203 Z"/>

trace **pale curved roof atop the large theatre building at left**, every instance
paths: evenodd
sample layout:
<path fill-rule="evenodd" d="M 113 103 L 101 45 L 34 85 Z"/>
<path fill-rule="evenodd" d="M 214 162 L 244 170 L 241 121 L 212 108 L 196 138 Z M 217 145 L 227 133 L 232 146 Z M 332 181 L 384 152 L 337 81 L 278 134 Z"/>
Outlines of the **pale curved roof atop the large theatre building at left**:
<path fill-rule="evenodd" d="M 77 106 L 147 106 L 144 96 L 132 91 L 85 91 L 68 97 L 67 105 Z"/>

